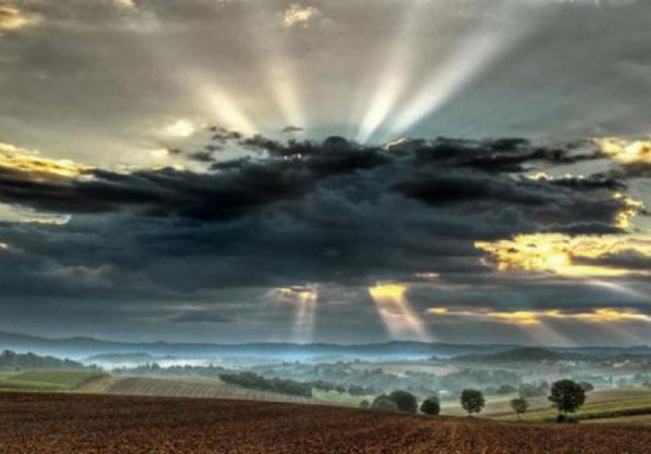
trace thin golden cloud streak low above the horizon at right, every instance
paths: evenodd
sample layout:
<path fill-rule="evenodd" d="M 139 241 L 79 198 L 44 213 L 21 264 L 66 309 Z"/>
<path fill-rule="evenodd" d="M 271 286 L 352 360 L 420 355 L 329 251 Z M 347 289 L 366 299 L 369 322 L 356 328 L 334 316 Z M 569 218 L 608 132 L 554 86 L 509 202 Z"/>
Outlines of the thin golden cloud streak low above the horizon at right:
<path fill-rule="evenodd" d="M 651 316 L 631 308 L 599 307 L 591 311 L 568 312 L 560 308 L 544 311 L 492 311 L 452 310 L 431 307 L 427 314 L 434 316 L 468 317 L 488 321 L 501 321 L 518 326 L 538 326 L 549 321 L 579 321 L 586 324 L 623 324 L 638 321 L 651 324 Z"/>

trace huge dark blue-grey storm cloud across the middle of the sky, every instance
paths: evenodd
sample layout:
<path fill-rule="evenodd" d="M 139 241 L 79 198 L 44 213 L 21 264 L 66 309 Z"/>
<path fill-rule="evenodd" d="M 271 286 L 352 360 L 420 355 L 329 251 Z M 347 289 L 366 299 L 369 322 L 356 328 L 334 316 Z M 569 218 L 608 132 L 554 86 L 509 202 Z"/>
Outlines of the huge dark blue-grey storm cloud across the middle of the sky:
<path fill-rule="evenodd" d="M 16 273 L 42 279 L 40 288 L 140 295 L 152 289 L 367 285 L 430 270 L 471 275 L 487 270 L 475 240 L 622 231 L 617 216 L 626 202 L 613 198 L 622 188 L 617 181 L 530 179 L 493 164 L 467 165 L 481 155 L 517 157 L 521 168 L 548 156 L 547 165 L 554 165 L 569 151 L 514 140 L 421 140 L 391 150 L 339 137 L 227 141 L 268 156 L 213 162 L 204 173 L 87 169 L 36 178 L 2 168 L 4 203 L 73 218 L 5 224 L 0 239 L 9 249 L 1 252 L 29 264 Z"/>

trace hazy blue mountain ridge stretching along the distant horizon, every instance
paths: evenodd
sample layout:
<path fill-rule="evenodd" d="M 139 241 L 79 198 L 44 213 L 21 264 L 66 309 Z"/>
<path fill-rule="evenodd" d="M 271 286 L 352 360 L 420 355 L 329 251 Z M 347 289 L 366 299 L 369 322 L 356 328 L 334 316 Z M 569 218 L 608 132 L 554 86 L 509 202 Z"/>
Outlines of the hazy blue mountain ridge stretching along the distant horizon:
<path fill-rule="evenodd" d="M 45 338 L 15 332 L 0 332 L 0 350 L 18 353 L 33 352 L 40 355 L 86 358 L 99 354 L 149 354 L 154 356 L 176 355 L 192 357 L 259 356 L 288 361 L 312 357 L 360 357 L 360 358 L 410 358 L 427 360 L 433 356 L 454 357 L 472 354 L 500 353 L 523 349 L 515 344 L 450 344 L 415 341 L 391 341 L 384 343 L 336 344 L 336 343 L 271 343 L 253 342 L 239 344 L 222 343 L 175 343 L 175 342 L 124 342 L 87 337 Z M 578 353 L 593 356 L 650 355 L 651 348 L 546 348 L 558 353 Z"/>

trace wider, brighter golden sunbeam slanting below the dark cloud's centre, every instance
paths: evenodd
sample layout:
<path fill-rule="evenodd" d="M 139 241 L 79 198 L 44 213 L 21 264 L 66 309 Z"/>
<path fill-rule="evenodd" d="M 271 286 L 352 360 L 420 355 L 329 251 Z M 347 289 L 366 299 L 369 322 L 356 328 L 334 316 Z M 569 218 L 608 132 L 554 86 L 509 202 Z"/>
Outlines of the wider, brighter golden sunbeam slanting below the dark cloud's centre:
<path fill-rule="evenodd" d="M 404 283 L 380 282 L 368 288 L 368 294 L 391 338 L 428 341 L 425 325 L 406 298 L 408 290 Z"/>

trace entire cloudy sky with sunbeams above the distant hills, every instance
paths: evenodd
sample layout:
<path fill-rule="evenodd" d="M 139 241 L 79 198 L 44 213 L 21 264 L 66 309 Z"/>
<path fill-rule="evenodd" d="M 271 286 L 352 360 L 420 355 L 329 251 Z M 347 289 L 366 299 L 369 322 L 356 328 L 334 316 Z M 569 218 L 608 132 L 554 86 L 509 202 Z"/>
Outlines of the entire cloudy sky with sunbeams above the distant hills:
<path fill-rule="evenodd" d="M 651 344 L 649 23 L 0 0 L 0 330 Z"/>

